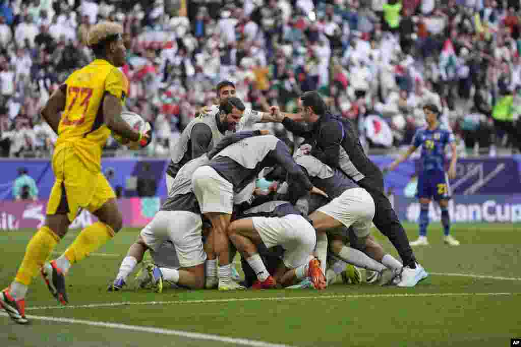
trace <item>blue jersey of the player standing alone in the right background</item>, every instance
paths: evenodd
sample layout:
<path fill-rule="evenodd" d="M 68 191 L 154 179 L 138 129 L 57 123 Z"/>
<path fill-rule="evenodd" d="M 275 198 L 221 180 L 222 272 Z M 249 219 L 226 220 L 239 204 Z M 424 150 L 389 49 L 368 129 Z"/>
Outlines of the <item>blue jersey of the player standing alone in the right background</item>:
<path fill-rule="evenodd" d="M 421 164 L 423 171 L 444 171 L 445 146 L 454 142 L 454 135 L 439 125 L 436 130 L 427 127 L 419 129 L 413 138 L 413 146 L 421 146 Z"/>

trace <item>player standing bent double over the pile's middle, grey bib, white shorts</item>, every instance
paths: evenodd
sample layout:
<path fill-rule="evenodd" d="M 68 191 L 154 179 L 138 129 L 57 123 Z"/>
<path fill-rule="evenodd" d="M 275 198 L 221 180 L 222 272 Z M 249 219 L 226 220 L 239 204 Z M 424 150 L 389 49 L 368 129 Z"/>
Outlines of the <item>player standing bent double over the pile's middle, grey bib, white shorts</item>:
<path fill-rule="evenodd" d="M 273 112 L 280 111 L 275 107 Z M 233 211 L 234 192 L 242 191 L 254 182 L 262 169 L 277 164 L 301 182 L 305 190 L 327 196 L 309 182 L 293 161 L 288 146 L 272 135 L 247 138 L 228 146 L 192 176 L 193 190 L 201 212 L 212 223 L 210 238 L 213 238 L 213 250 L 219 258 L 219 290 L 244 289 L 231 280 L 226 233 Z M 216 278 L 217 273 L 207 276 Z"/>

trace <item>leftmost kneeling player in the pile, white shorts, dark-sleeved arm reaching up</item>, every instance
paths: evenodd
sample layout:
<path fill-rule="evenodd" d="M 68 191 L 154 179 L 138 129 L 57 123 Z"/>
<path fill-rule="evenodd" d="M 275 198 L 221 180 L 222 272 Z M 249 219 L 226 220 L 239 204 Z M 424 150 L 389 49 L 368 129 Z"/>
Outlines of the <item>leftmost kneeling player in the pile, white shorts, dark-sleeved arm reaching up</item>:
<path fill-rule="evenodd" d="M 240 132 L 224 137 L 210 153 L 218 151 L 244 138 L 265 135 L 267 131 Z M 128 276 L 143 260 L 150 249 L 157 253 L 164 241 L 171 241 L 176 248 L 180 269 L 170 269 L 167 280 L 185 287 L 200 289 L 204 286 L 204 263 L 201 210 L 192 191 L 192 175 L 201 165 L 206 165 L 207 154 L 184 164 L 172 182 L 168 198 L 153 220 L 141 231 L 138 240 L 130 247 L 119 272 L 108 291 L 118 291 L 126 286 Z M 211 252 L 209 252 L 211 253 Z M 213 262 L 215 264 L 215 260 Z M 212 264 L 210 262 L 208 265 Z M 212 271 L 212 269 L 210 269 Z M 215 268 L 213 269 L 215 271 Z M 165 271 L 167 272 L 167 271 Z M 166 277 L 163 274 L 163 278 Z M 157 276 L 155 276 L 157 277 Z M 171 277 L 171 278 L 170 278 Z M 160 291 L 160 288 L 158 288 Z"/>

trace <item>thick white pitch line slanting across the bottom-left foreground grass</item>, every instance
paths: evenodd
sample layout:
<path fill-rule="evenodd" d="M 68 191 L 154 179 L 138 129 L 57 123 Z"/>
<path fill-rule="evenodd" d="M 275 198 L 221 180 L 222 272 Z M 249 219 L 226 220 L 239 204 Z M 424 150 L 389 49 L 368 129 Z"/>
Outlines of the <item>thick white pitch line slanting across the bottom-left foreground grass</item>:
<path fill-rule="evenodd" d="M 8 316 L 8 314 L 3 313 L 3 312 L 0 312 L 0 315 Z M 235 343 L 235 344 L 241 344 L 244 346 L 253 346 L 253 347 L 291 347 L 287 344 L 276 344 L 276 343 L 269 343 L 269 342 L 263 342 L 263 341 L 248 340 L 248 339 L 230 338 L 230 337 L 224 337 L 224 336 L 203 334 L 203 333 L 198 333 L 198 332 L 160 329 L 160 328 L 153 328 L 153 327 L 142 327 L 142 326 L 137 326 L 137 325 L 126 325 L 126 324 L 108 323 L 108 322 L 93 322 L 92 320 L 83 320 L 83 319 L 32 316 L 32 315 L 28 315 L 27 318 L 35 319 L 35 320 L 47 320 L 49 322 L 83 324 L 83 325 L 90 325 L 93 327 L 150 332 L 150 333 L 159 334 L 159 335 L 175 335 L 175 336 L 185 337 L 185 338 L 189 338 L 189 339 L 227 342 L 227 343 Z"/>

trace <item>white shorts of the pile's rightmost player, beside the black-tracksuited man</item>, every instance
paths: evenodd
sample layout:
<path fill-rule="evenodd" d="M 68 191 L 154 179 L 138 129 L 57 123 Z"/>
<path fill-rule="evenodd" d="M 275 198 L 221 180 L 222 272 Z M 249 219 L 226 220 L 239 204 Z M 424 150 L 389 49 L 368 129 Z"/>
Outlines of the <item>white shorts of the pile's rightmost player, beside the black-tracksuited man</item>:
<path fill-rule="evenodd" d="M 352 188 L 317 211 L 336 219 L 346 228 L 353 226 L 357 237 L 366 237 L 375 216 L 375 202 L 364 188 Z"/>

